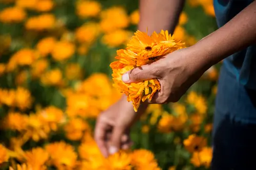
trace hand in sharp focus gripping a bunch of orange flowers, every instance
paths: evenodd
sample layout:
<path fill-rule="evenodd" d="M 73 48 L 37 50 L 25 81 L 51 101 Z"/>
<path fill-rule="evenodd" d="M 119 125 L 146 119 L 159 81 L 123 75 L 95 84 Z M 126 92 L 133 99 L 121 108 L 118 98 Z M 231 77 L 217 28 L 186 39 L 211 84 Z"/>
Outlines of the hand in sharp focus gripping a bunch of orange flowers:
<path fill-rule="evenodd" d="M 161 90 L 155 93 L 153 99 L 148 103 L 177 102 L 207 70 L 206 56 L 202 52 L 198 53 L 193 46 L 183 48 L 154 63 L 128 71 L 122 76 L 122 81 L 133 83 L 157 78 Z"/>

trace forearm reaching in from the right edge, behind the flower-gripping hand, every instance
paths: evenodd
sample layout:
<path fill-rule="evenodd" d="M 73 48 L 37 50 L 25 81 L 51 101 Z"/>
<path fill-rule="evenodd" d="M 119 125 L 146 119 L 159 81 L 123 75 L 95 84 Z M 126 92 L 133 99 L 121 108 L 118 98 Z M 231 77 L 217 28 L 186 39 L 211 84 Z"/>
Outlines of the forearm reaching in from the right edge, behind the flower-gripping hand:
<path fill-rule="evenodd" d="M 251 3 L 226 25 L 194 45 L 196 53 L 205 53 L 206 58 L 197 58 L 198 63 L 214 65 L 229 55 L 256 42 L 256 2 Z M 201 55 L 199 55 L 201 56 Z"/>

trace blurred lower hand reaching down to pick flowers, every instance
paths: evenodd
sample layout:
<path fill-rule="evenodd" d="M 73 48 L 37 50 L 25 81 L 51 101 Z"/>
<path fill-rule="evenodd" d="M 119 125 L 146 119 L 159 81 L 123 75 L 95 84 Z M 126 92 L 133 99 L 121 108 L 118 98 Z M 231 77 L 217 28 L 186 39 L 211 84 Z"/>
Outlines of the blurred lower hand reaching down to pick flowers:
<path fill-rule="evenodd" d="M 132 103 L 127 102 L 123 95 L 117 103 L 98 116 L 94 138 L 103 156 L 131 147 L 130 127 L 145 111 L 146 106 L 142 105 L 135 112 Z"/>

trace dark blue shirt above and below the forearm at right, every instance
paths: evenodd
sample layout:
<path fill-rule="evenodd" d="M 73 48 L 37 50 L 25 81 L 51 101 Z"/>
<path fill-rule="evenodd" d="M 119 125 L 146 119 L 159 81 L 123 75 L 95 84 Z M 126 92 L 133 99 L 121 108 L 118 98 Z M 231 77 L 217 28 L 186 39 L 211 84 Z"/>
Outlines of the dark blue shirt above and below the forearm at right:
<path fill-rule="evenodd" d="M 252 0 L 214 0 L 218 26 L 225 25 L 251 2 Z M 223 66 L 240 84 L 256 90 L 256 45 L 229 56 L 223 61 Z"/>

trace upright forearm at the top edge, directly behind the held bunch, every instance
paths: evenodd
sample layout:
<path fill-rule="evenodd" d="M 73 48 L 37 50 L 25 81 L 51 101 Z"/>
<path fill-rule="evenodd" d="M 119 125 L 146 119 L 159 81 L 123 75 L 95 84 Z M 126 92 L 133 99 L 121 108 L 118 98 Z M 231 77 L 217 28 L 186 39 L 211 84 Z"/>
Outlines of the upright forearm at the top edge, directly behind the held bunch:
<path fill-rule="evenodd" d="M 148 35 L 161 30 L 173 33 L 184 2 L 185 0 L 140 0 L 138 30 L 145 32 L 148 28 Z"/>

